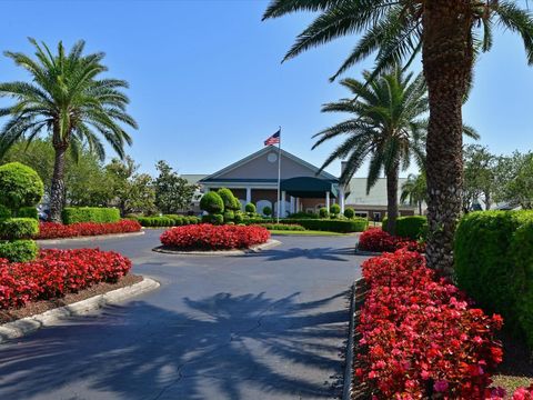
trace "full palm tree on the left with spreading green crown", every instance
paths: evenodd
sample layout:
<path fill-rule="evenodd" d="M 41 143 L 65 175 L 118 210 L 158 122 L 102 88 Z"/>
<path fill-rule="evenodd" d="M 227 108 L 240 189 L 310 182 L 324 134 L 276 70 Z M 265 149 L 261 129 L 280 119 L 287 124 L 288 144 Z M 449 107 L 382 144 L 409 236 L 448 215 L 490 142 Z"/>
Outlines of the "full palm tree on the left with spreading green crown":
<path fill-rule="evenodd" d="M 128 82 L 99 79 L 108 70 L 101 63 L 104 53 L 84 56 L 84 42 L 79 41 L 69 53 L 59 42 L 58 53 L 52 54 L 46 43 L 29 40 L 36 48 L 36 59 L 4 52 L 30 73 L 32 82 L 0 83 L 0 96 L 16 100 L 0 109 L 0 117 L 10 117 L 0 131 L 0 157 L 21 139 L 31 142 L 42 132 L 51 136 L 56 159 L 50 220 L 60 222 L 67 151 L 76 156 L 82 144 L 88 144 L 103 160 L 103 138 L 123 158 L 124 144 L 131 144 L 131 138 L 122 126 L 137 129 L 137 122 L 125 113 L 129 99 L 121 89 L 128 88 Z"/>

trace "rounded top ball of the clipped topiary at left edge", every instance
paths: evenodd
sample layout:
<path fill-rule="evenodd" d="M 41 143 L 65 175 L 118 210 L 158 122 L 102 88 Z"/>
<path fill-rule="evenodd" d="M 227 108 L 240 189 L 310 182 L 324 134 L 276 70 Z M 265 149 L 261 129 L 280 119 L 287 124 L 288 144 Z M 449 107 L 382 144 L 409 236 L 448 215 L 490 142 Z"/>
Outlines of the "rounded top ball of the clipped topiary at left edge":
<path fill-rule="evenodd" d="M 21 207 L 37 206 L 44 193 L 39 174 L 20 162 L 0 167 L 0 203 L 17 211 Z"/>

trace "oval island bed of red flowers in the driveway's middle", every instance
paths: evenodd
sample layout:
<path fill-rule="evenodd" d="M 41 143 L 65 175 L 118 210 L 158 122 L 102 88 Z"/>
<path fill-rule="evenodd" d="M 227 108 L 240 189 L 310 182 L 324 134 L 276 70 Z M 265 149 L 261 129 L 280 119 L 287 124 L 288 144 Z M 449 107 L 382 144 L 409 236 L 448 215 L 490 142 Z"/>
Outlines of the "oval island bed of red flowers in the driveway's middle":
<path fill-rule="evenodd" d="M 177 227 L 161 234 L 161 243 L 183 250 L 244 249 L 269 240 L 270 232 L 258 226 L 197 226 Z"/>

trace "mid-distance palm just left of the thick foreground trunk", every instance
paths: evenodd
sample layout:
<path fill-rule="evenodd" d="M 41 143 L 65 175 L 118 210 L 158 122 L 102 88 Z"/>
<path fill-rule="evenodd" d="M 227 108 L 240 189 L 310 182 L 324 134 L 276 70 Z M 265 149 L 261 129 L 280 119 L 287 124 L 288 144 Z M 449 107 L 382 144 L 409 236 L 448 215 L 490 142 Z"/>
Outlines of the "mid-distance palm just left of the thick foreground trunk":
<path fill-rule="evenodd" d="M 365 79 L 370 72 L 363 73 Z M 341 84 L 350 90 L 353 98 L 328 103 L 323 112 L 349 112 L 352 119 L 328 128 L 314 137 L 320 137 L 313 149 L 326 140 L 348 136 L 330 154 L 321 169 L 338 159 L 346 159 L 341 174 L 345 184 L 370 159 L 366 192 L 376 183 L 382 171 L 386 177 L 388 231 L 395 232 L 398 217 L 398 181 L 400 170 L 409 168 L 414 157 L 422 167 L 428 111 L 428 97 L 424 78 L 419 74 L 404 74 L 400 68 L 370 81 L 368 86 L 355 79 L 344 79 Z"/>

